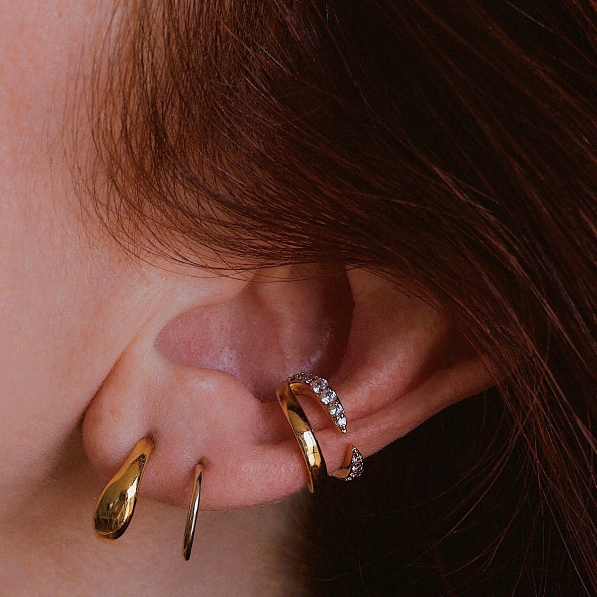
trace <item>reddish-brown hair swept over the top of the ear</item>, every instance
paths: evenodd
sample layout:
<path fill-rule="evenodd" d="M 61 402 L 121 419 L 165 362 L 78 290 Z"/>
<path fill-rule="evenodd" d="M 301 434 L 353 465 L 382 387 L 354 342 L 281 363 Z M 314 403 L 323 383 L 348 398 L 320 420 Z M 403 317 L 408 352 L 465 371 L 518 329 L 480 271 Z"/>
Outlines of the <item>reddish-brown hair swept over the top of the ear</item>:
<path fill-rule="evenodd" d="M 85 170 L 113 235 L 435 297 L 508 374 L 513 441 L 597 590 L 595 3 L 155 0 L 123 22 Z"/>

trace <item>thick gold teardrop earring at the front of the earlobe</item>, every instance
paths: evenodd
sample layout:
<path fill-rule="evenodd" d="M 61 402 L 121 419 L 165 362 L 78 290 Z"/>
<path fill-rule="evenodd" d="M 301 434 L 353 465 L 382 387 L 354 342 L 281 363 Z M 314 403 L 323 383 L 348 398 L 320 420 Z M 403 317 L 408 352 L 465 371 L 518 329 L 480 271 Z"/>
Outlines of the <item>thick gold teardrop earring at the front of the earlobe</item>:
<path fill-rule="evenodd" d="M 153 441 L 143 438 L 133 448 L 120 470 L 110 479 L 97 500 L 93 531 L 102 541 L 118 539 L 133 518 L 139 483 L 153 451 Z"/>

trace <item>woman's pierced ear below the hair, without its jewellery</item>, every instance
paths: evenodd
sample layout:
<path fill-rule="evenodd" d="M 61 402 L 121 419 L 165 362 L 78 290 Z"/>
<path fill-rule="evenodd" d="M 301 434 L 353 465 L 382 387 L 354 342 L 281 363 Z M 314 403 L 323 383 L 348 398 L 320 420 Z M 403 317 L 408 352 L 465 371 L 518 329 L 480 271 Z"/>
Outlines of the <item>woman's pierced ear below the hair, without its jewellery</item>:
<path fill-rule="evenodd" d="M 165 503 L 186 506 L 198 461 L 204 509 L 303 487 L 301 452 L 274 399 L 278 382 L 300 370 L 330 377 L 346 411 L 344 435 L 315 401 L 303 404 L 329 472 L 347 444 L 367 457 L 496 381 L 433 304 L 364 270 L 285 267 L 242 282 L 173 275 L 170 284 L 83 425 L 106 477 L 152 436 L 141 494 Z"/>

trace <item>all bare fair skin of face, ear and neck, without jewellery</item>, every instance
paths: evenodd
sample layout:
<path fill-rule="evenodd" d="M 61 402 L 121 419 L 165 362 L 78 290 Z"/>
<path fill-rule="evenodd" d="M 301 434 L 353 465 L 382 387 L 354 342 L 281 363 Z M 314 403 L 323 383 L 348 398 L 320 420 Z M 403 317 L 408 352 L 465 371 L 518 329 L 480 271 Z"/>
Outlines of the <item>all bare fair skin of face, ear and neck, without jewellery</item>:
<path fill-rule="evenodd" d="M 0 586 L 275 595 L 268 579 L 290 573 L 268 550 L 295 532 L 289 512 L 302 498 L 238 509 L 306 483 L 272 401 L 278 381 L 307 367 L 332 374 L 347 435 L 304 407 L 334 470 L 348 442 L 367 457 L 494 378 L 455 348 L 462 341 L 435 309 L 371 273 L 315 264 L 216 275 L 133 259 L 98 224 L 90 233 L 65 157 L 64 106 L 107 8 L 2 2 Z M 96 498 L 146 435 L 156 448 L 144 499 L 127 534 L 101 544 Z M 183 509 L 199 460 L 201 508 L 223 512 L 202 516 L 187 564 Z"/>

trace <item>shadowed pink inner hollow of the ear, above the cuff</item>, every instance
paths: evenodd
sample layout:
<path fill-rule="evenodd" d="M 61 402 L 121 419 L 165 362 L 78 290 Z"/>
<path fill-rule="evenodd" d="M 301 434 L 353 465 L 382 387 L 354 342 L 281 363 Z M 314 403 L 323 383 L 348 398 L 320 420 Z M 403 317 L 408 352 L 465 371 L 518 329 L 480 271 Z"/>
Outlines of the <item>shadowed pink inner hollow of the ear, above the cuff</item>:
<path fill-rule="evenodd" d="M 346 352 L 354 301 L 343 266 L 263 270 L 224 303 L 171 320 L 155 347 L 168 361 L 224 371 L 261 402 L 297 371 L 332 377 Z"/>

